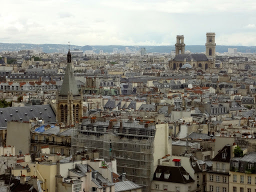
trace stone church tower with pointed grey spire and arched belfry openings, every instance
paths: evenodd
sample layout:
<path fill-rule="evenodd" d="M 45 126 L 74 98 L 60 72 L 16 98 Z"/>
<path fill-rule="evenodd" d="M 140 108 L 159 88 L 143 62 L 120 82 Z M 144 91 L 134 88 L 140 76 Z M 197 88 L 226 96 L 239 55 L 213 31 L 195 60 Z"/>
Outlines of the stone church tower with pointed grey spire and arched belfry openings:
<path fill-rule="evenodd" d="M 56 94 L 58 122 L 71 125 L 79 122 L 82 116 L 82 93 L 79 93 L 71 65 L 71 53 L 68 49 L 67 65 L 60 91 Z"/>

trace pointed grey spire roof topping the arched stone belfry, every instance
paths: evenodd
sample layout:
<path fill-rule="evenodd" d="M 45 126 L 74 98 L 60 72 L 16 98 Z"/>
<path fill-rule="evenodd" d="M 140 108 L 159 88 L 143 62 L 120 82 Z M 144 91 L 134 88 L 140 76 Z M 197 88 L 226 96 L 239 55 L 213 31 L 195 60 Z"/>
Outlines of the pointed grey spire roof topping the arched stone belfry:
<path fill-rule="evenodd" d="M 71 53 L 68 49 L 67 53 L 67 65 L 65 70 L 64 79 L 61 85 L 59 95 L 67 96 L 68 92 L 72 95 L 79 95 L 79 91 L 76 85 L 76 80 L 74 78 L 74 73 L 71 65 Z"/>

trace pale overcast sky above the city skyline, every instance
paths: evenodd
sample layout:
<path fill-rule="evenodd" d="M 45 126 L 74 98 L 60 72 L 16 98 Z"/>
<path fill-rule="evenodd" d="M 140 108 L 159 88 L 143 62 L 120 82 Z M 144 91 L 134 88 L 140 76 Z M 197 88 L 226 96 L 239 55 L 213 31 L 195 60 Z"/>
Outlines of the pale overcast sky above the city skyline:
<path fill-rule="evenodd" d="M 256 0 L 4 0 L 0 42 L 256 45 Z"/>

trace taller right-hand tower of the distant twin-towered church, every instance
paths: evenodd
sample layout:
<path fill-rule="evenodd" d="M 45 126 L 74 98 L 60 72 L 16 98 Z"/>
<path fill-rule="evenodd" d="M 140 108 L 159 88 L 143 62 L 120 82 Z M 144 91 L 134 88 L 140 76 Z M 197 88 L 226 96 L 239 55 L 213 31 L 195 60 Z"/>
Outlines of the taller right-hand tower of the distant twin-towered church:
<path fill-rule="evenodd" d="M 215 66 L 215 47 L 215 32 L 206 32 L 205 55 L 213 62 L 212 68 Z"/>

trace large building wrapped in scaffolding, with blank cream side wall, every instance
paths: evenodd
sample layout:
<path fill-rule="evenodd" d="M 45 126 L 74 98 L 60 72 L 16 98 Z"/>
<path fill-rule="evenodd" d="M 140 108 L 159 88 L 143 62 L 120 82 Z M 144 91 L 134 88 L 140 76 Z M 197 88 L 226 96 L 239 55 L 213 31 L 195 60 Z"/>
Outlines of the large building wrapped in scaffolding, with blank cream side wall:
<path fill-rule="evenodd" d="M 74 129 L 72 152 L 98 150 L 100 158 L 116 158 L 117 172 L 150 191 L 158 159 L 171 154 L 168 129 L 167 123 L 91 117 Z"/>

